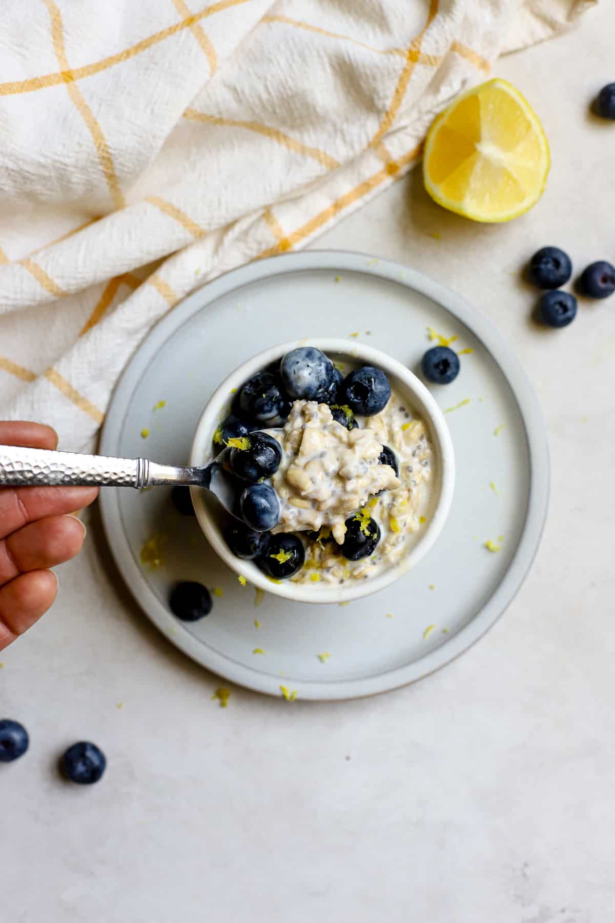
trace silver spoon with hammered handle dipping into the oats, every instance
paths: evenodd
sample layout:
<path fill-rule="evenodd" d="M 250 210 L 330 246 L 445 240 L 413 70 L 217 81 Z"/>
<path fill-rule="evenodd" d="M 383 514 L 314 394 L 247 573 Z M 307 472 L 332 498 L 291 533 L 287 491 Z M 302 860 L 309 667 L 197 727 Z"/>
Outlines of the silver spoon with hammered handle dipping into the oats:
<path fill-rule="evenodd" d="M 100 486 L 144 487 L 195 485 L 213 494 L 232 516 L 239 516 L 243 487 L 224 467 L 229 448 L 197 468 L 149 462 L 148 459 L 115 459 L 104 455 L 77 455 L 47 449 L 0 446 L 0 486 Z"/>

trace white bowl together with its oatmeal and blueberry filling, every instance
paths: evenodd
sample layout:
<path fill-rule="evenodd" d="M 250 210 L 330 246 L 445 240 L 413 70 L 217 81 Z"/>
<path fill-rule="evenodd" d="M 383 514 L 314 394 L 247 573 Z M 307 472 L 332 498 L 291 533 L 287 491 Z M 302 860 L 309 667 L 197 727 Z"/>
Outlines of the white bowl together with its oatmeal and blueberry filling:
<path fill-rule="evenodd" d="M 242 581 L 298 602 L 347 602 L 395 581 L 452 499 L 453 448 L 431 394 L 360 343 L 284 343 L 240 366 L 207 403 L 190 463 L 225 448 L 241 518 L 192 488 L 199 523 Z"/>

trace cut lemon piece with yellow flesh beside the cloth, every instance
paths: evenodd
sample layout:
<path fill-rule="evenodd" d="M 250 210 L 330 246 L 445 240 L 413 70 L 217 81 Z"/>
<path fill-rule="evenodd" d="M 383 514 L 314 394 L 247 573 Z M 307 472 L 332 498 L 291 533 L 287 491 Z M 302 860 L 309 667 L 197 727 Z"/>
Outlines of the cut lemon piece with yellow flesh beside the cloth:
<path fill-rule="evenodd" d="M 549 143 L 519 90 L 498 78 L 459 96 L 430 128 L 425 188 L 475 222 L 508 222 L 531 209 L 549 174 Z"/>

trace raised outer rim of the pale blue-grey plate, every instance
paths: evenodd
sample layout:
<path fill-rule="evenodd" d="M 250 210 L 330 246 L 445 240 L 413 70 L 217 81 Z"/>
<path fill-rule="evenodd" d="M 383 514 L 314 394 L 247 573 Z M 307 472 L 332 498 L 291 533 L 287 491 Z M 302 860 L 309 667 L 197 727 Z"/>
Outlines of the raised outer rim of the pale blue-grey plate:
<path fill-rule="evenodd" d="M 148 354 L 156 354 L 174 330 L 195 313 L 212 305 L 221 296 L 245 288 L 253 282 L 287 275 L 304 270 L 337 270 L 362 272 L 396 282 L 411 291 L 423 294 L 443 306 L 458 318 L 481 342 L 499 366 L 507 380 L 517 404 L 518 412 L 526 430 L 529 457 L 529 489 L 526 519 L 503 581 L 480 608 L 475 617 L 460 629 L 445 644 L 426 653 L 420 660 L 395 669 L 368 677 L 341 680 L 294 680 L 286 677 L 287 684 L 299 687 L 299 697 L 312 701 L 335 701 L 356 699 L 406 686 L 408 683 L 429 676 L 435 670 L 451 663 L 465 653 L 476 641 L 503 616 L 514 596 L 523 585 L 526 575 L 538 552 L 544 529 L 550 497 L 550 460 L 547 431 L 544 425 L 538 398 L 532 389 L 526 373 L 496 330 L 486 318 L 467 300 L 437 282 L 430 276 L 394 260 L 373 257 L 369 254 L 346 250 L 307 250 L 300 253 L 283 254 L 247 263 L 230 270 L 212 282 L 200 286 L 186 295 L 170 314 L 160 318 L 145 339 L 137 346 L 122 371 L 114 389 L 101 427 L 100 450 L 102 454 L 116 453 L 114 445 L 121 436 L 125 407 L 140 379 L 139 365 Z M 476 325 L 479 325 L 477 329 Z M 119 492 L 101 491 L 101 520 L 110 546 L 113 560 L 120 570 L 124 582 L 136 600 L 137 605 L 158 629 L 183 653 L 198 664 L 238 685 L 279 697 L 279 677 L 269 676 L 248 665 L 235 661 L 207 648 L 189 631 L 183 628 L 151 590 L 141 569 L 138 568 L 131 546 L 125 536 L 119 516 Z M 140 585 L 139 585 L 140 584 Z M 138 591 L 137 591 L 138 586 Z M 138 594 L 137 594 L 138 593 Z M 204 656 L 205 654 L 205 656 Z"/>

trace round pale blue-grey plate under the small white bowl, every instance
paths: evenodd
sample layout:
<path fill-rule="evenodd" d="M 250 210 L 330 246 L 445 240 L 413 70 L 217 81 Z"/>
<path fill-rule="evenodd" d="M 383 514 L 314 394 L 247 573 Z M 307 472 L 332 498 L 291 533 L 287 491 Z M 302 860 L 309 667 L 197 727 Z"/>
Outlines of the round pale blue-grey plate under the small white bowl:
<path fill-rule="evenodd" d="M 172 508 L 166 489 L 102 491 L 124 580 L 198 663 L 261 692 L 279 695 L 284 685 L 325 700 L 394 689 L 448 663 L 502 615 L 536 554 L 549 498 L 546 433 L 514 354 L 475 308 L 416 270 L 360 254 L 310 251 L 230 272 L 186 298 L 136 352 L 114 392 L 101 452 L 183 463 L 210 394 L 272 343 L 358 332 L 417 370 L 432 345 L 428 327 L 456 336 L 456 350 L 472 350 L 453 384 L 432 387 L 444 409 L 456 407 L 446 415 L 455 498 L 436 545 L 382 593 L 344 607 L 259 600 L 214 555 L 195 519 Z M 140 550 L 155 534 L 164 536 L 165 563 L 148 569 Z M 488 541 L 501 550 L 489 551 Z M 222 592 L 193 625 L 167 605 L 181 580 Z M 322 663 L 319 653 L 330 657 Z"/>

